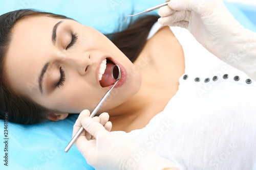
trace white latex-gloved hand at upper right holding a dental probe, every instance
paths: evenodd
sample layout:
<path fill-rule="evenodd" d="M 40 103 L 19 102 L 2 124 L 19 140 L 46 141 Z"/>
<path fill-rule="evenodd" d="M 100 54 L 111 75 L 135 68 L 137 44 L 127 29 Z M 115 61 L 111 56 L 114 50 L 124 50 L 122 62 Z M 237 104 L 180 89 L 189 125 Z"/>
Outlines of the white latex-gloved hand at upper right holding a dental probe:
<path fill-rule="evenodd" d="M 256 80 L 256 33 L 244 29 L 222 0 L 171 0 L 158 14 L 161 25 L 186 28 L 209 52 Z"/>

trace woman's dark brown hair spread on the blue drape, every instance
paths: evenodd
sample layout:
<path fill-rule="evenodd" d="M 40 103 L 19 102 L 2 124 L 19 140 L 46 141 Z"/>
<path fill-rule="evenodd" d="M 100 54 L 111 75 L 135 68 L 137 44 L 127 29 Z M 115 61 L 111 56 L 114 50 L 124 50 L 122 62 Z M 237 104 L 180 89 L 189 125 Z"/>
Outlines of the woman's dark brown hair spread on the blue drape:
<path fill-rule="evenodd" d="M 63 15 L 30 9 L 16 10 L 0 16 L 0 119 L 4 119 L 5 113 L 7 113 L 9 121 L 13 123 L 25 125 L 38 124 L 46 120 L 49 113 L 55 112 L 36 104 L 27 96 L 15 92 L 8 85 L 5 77 L 5 55 L 11 41 L 12 29 L 20 19 L 39 15 L 71 19 Z M 146 42 L 146 37 L 157 19 L 157 16 L 145 16 L 137 19 L 124 31 L 106 36 L 134 62 L 140 54 Z"/>

